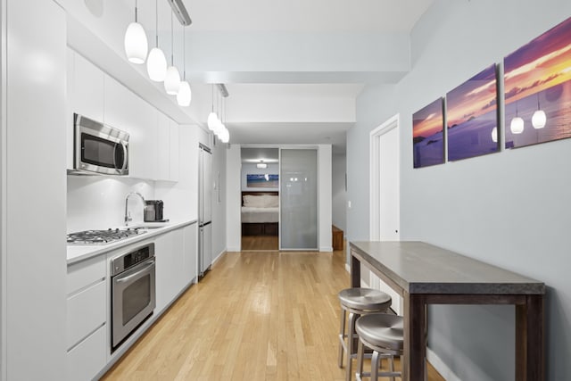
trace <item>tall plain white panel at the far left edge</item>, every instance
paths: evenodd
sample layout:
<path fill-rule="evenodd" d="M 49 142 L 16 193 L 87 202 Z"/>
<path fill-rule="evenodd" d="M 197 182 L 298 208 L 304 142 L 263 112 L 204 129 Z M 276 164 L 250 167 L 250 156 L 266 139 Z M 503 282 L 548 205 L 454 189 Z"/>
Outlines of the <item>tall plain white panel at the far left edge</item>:
<path fill-rule="evenodd" d="M 0 378 L 62 380 L 66 354 L 65 12 L 46 0 L 1 4 Z"/>

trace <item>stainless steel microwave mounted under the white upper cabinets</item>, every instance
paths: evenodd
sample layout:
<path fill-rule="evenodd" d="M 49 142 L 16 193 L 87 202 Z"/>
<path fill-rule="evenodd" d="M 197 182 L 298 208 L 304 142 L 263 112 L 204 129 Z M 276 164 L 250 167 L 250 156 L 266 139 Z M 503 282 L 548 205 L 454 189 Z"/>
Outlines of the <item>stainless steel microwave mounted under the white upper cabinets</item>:
<path fill-rule="evenodd" d="M 128 133 L 73 114 L 74 173 L 128 175 Z"/>

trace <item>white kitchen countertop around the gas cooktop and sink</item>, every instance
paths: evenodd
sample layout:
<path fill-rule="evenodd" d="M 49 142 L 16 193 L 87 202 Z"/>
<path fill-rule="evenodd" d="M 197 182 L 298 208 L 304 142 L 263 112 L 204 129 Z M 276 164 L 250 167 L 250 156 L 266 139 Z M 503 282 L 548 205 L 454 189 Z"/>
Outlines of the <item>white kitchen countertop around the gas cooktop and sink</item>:
<path fill-rule="evenodd" d="M 153 228 L 143 234 L 139 234 L 137 236 L 130 236 L 126 239 L 121 239 L 120 241 L 115 241 L 110 244 L 68 244 L 67 246 L 68 265 L 77 263 L 79 261 L 85 261 L 89 258 L 95 257 L 96 255 L 109 253 L 112 250 L 119 249 L 122 246 L 127 246 L 128 244 L 135 244 L 139 241 L 143 241 L 153 236 L 159 236 L 176 228 L 182 228 L 186 225 L 192 225 L 196 223 L 196 221 L 197 221 L 196 219 L 186 219 L 186 220 L 170 221 L 170 222 L 134 224 L 132 226 L 129 226 L 128 228 L 137 228 L 140 226 L 150 226 L 150 225 L 153 226 L 160 225 L 161 228 Z"/>

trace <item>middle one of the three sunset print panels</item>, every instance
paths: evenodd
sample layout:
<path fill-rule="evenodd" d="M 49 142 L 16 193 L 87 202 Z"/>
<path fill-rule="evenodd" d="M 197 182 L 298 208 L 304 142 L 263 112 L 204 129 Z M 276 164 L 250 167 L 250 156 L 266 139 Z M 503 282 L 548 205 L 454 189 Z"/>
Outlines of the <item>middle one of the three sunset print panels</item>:
<path fill-rule="evenodd" d="M 446 95 L 449 161 L 499 150 L 496 85 L 492 64 Z"/>

